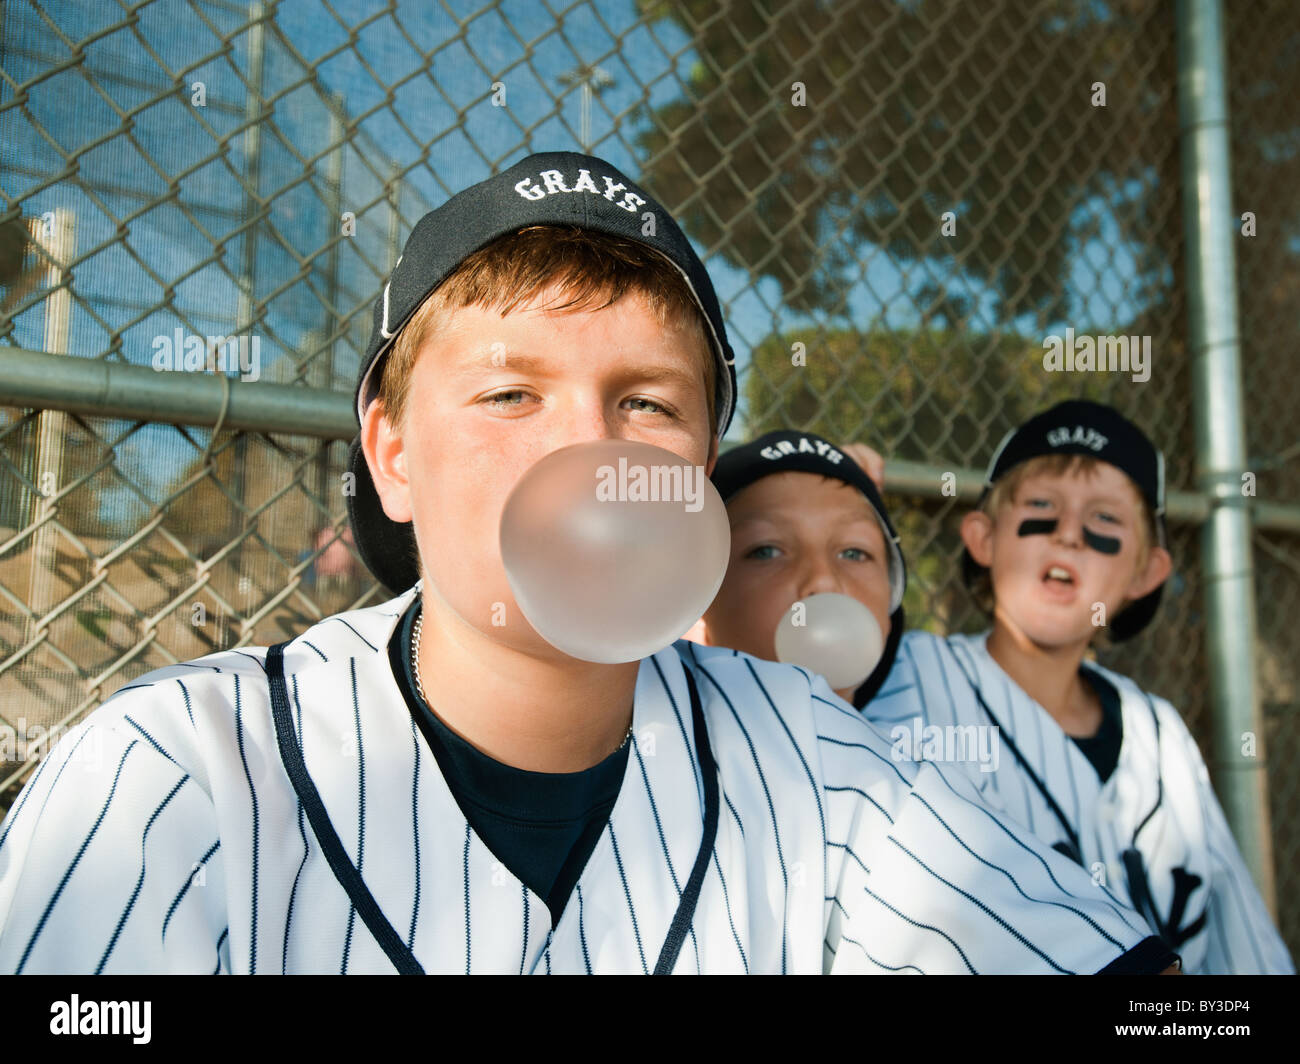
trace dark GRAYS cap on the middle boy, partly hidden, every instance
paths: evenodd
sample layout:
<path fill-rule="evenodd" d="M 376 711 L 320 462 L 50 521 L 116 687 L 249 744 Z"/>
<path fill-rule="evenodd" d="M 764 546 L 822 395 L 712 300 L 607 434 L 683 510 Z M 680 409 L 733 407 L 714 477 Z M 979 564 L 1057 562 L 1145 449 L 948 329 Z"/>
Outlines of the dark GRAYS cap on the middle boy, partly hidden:
<path fill-rule="evenodd" d="M 906 619 L 902 597 L 907 589 L 907 567 L 898 544 L 898 533 L 894 532 L 875 481 L 835 444 L 811 432 L 777 429 L 749 444 L 732 447 L 718 458 L 711 479 L 723 502 L 729 502 L 744 488 L 772 473 L 820 473 L 842 480 L 866 497 L 884 532 L 885 550 L 889 553 L 889 635 L 885 637 L 880 662 L 853 692 L 853 704 L 862 709 L 875 697 L 885 676 L 889 675 L 902 639 Z"/>

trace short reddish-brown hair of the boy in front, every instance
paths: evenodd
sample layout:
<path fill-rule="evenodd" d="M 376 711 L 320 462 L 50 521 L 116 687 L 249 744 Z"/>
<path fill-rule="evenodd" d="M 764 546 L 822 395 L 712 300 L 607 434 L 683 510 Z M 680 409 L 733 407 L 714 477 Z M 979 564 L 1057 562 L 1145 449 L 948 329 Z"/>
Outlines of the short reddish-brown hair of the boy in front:
<path fill-rule="evenodd" d="M 681 272 L 642 243 L 552 225 L 521 229 L 476 251 L 402 326 L 381 367 L 378 397 L 389 424 L 396 428 L 403 424 L 420 349 L 448 311 L 477 306 L 506 315 L 551 285 L 559 285 L 566 298 L 550 304 L 550 310 L 603 310 L 637 294 L 646 299 L 660 324 L 689 323 L 699 337 L 708 433 L 716 434 L 718 366 L 707 339 L 707 323 Z"/>

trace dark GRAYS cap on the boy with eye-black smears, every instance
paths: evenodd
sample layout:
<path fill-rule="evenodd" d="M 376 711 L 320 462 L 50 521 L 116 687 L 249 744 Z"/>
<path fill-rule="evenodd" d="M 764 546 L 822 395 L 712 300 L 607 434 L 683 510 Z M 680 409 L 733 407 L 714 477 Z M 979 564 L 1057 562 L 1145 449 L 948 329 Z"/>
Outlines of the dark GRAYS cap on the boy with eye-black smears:
<path fill-rule="evenodd" d="M 1160 546 L 1169 542 L 1165 528 L 1165 455 L 1138 425 L 1118 410 L 1091 399 L 1066 399 L 1049 410 L 1035 414 L 1019 428 L 1011 429 L 988 464 L 984 475 L 983 503 L 993 484 L 1011 468 L 1045 454 L 1082 454 L 1106 462 L 1124 473 L 1150 509 Z M 972 587 L 976 576 L 987 570 L 968 550 L 962 550 L 962 576 Z M 1165 585 L 1143 598 L 1130 602 L 1110 622 L 1110 635 L 1123 641 L 1145 628 L 1160 606 Z"/>

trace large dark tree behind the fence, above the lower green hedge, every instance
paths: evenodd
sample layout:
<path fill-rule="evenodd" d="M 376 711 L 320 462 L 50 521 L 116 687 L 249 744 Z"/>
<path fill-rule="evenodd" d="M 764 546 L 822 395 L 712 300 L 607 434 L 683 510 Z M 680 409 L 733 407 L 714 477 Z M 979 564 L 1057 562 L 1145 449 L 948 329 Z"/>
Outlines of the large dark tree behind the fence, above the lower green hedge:
<path fill-rule="evenodd" d="M 923 293 L 936 308 L 961 313 L 978 281 L 997 320 L 1061 320 L 1071 255 L 1096 225 L 1080 208 L 1098 196 L 1139 248 L 1139 287 L 1167 284 L 1152 177 L 1176 180 L 1176 156 L 1141 135 L 1176 129 L 1173 18 L 1154 0 L 642 8 L 699 56 L 640 135 L 644 178 L 706 248 L 775 278 L 790 310 L 842 312 L 874 246 L 941 260 Z M 948 211 L 957 230 L 942 235 Z"/>

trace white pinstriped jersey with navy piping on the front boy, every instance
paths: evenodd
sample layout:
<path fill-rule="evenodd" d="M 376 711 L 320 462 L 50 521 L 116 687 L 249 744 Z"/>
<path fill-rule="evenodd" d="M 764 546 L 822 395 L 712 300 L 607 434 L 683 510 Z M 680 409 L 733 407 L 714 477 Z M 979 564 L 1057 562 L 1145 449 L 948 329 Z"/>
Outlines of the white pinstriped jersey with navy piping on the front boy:
<path fill-rule="evenodd" d="M 386 644 L 413 593 L 313 626 L 285 674 L 329 819 L 426 972 L 654 968 L 702 838 L 688 669 L 722 801 L 676 972 L 1171 960 L 1071 861 L 933 765 L 893 761 L 820 678 L 685 641 L 641 662 L 627 774 L 552 927 L 469 829 L 403 702 Z M 286 777 L 264 656 L 151 672 L 47 757 L 0 827 L 0 969 L 393 970 Z"/>

